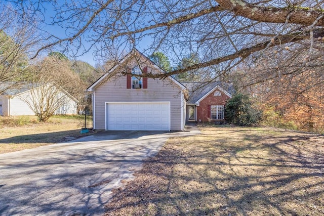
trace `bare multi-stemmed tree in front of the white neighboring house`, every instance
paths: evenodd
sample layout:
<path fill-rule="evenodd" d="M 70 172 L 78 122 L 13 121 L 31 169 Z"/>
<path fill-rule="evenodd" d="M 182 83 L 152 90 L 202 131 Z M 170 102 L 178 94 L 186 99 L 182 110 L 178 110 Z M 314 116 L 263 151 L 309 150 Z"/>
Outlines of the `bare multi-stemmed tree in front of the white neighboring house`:
<path fill-rule="evenodd" d="M 62 109 L 71 106 L 71 99 L 77 101 L 75 98 L 82 98 L 86 88 L 85 83 L 71 70 L 70 62 L 55 58 L 45 58 L 30 66 L 27 86 L 30 94 L 22 94 L 20 99 L 39 121 L 47 121 L 55 114 L 65 114 Z"/>

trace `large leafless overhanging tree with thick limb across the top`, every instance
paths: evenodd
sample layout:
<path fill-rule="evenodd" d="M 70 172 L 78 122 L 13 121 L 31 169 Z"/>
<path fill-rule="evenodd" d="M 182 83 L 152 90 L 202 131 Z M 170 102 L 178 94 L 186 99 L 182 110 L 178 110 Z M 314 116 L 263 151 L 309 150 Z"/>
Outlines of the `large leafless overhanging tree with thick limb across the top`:
<path fill-rule="evenodd" d="M 96 47 L 97 56 L 113 55 L 118 59 L 116 54 L 140 48 L 147 56 L 157 50 L 163 52 L 172 62 L 192 53 L 201 60 L 166 74 L 148 73 L 150 77 L 208 68 L 205 73 L 211 75 L 206 77 L 215 79 L 227 76 L 241 63 L 251 66 L 259 59 L 271 60 L 275 56 L 269 54 L 273 52 L 285 56 L 276 59 L 280 61 L 273 62 L 276 65 L 292 58 L 304 59 L 305 67 L 308 60 L 322 60 L 321 0 L 8 2 L 15 3 L 18 13 L 28 17 L 44 15 L 51 8 L 55 16 L 45 22 L 66 29 L 66 37 L 51 34 L 36 55 L 60 45 L 64 50 L 71 48 L 76 55 Z M 140 47 L 144 41 L 148 48 Z M 276 76 L 281 72 L 277 70 Z"/>

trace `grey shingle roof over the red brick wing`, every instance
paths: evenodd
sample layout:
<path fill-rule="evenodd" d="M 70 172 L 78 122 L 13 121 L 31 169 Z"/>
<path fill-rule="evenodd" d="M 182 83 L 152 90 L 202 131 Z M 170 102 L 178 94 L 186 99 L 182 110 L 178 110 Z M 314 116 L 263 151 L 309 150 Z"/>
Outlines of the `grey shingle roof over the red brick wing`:
<path fill-rule="evenodd" d="M 221 81 L 213 82 L 181 82 L 188 90 L 189 99 L 187 104 L 195 104 L 199 99 L 203 98 L 206 94 L 212 91 L 215 87 L 219 86 L 229 94 L 235 92 L 233 85 Z"/>

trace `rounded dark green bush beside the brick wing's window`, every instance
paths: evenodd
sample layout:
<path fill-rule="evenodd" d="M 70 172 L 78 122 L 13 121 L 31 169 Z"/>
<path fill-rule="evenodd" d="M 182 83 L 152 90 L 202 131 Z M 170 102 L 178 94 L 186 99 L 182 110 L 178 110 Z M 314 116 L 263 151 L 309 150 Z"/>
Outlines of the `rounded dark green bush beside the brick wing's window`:
<path fill-rule="evenodd" d="M 262 112 L 254 107 L 250 97 L 235 94 L 225 106 L 225 119 L 228 123 L 240 126 L 252 126 L 261 120 Z"/>

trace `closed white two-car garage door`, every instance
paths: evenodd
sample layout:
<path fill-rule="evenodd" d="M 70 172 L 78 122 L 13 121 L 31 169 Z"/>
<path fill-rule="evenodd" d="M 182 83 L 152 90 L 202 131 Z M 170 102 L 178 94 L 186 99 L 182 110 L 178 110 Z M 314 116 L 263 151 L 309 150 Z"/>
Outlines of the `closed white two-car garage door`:
<path fill-rule="evenodd" d="M 170 103 L 106 103 L 106 129 L 170 131 Z"/>

